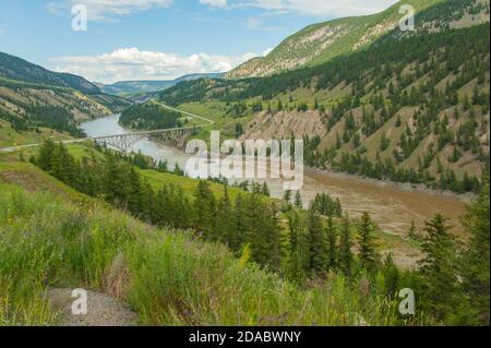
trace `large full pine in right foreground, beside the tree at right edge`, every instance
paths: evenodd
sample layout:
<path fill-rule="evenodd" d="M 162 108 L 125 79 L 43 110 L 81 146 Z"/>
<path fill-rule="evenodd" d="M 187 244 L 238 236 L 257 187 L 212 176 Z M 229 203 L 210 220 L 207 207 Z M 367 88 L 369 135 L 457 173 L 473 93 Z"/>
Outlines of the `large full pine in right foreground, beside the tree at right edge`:
<path fill-rule="evenodd" d="M 426 223 L 427 236 L 422 243 L 426 257 L 419 262 L 426 308 L 440 321 L 456 309 L 457 251 L 446 221 L 443 215 L 436 214 L 431 221 Z"/>

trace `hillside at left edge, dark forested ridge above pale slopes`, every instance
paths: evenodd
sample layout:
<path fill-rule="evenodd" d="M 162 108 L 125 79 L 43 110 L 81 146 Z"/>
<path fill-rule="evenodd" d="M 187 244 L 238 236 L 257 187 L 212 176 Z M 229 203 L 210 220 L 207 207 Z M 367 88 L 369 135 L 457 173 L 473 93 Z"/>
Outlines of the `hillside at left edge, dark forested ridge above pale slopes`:
<path fill-rule="evenodd" d="M 79 121 L 129 106 L 129 100 L 106 95 L 81 76 L 51 72 L 0 52 L 0 119 L 15 132 L 47 127 L 82 135 Z"/>

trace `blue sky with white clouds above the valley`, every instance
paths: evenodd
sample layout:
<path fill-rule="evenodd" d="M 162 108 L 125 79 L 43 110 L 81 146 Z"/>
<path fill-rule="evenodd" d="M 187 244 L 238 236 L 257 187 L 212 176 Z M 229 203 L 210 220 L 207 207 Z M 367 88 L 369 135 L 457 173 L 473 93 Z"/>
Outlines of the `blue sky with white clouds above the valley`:
<path fill-rule="evenodd" d="M 307 25 L 395 2 L 0 0 L 0 51 L 93 82 L 172 80 L 231 70 Z"/>

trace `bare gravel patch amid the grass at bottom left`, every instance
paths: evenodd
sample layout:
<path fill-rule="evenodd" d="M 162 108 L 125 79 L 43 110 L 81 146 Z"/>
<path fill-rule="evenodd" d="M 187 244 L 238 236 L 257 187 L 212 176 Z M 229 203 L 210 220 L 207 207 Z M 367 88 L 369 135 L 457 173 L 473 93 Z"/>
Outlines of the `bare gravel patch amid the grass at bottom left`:
<path fill-rule="evenodd" d="M 72 289 L 51 289 L 48 297 L 62 314 L 61 326 L 135 326 L 137 315 L 124 303 L 94 291 L 87 291 L 87 314 L 72 314 Z"/>

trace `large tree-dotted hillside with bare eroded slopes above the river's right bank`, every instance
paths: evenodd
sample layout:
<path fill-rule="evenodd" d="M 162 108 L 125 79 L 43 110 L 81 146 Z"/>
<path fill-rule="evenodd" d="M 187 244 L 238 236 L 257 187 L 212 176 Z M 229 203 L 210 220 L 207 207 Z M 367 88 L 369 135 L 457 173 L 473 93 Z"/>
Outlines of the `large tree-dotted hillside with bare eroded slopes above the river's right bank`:
<path fill-rule="evenodd" d="M 303 137 L 312 167 L 474 191 L 489 158 L 490 26 L 471 25 L 489 7 L 469 3 L 429 8 L 417 35 L 396 28 L 324 64 L 160 98 L 221 103 L 243 139 Z"/>

